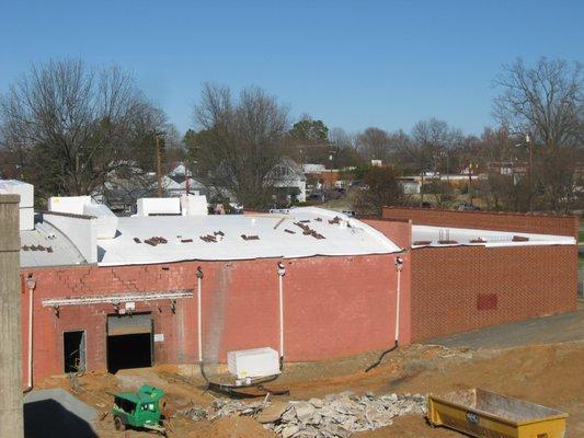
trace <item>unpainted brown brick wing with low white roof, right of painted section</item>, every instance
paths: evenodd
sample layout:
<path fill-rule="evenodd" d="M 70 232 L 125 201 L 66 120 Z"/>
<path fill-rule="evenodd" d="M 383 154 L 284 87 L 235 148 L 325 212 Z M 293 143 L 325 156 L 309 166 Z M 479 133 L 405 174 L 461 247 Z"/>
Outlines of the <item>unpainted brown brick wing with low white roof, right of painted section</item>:
<path fill-rule="evenodd" d="M 382 217 L 414 230 L 412 341 L 576 309 L 577 217 L 394 207 Z"/>

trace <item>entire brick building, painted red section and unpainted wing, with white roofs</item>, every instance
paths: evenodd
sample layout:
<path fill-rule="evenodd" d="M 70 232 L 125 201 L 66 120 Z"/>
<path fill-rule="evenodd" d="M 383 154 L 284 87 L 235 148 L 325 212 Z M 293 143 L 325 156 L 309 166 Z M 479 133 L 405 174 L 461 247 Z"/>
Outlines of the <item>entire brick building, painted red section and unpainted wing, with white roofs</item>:
<path fill-rule="evenodd" d="M 318 208 L 205 216 L 191 215 L 188 199 L 164 203 L 116 218 L 87 198 L 60 198 L 21 231 L 26 381 L 79 368 L 196 364 L 199 310 L 205 361 L 278 349 L 279 263 L 289 361 L 575 308 L 570 217 L 489 221 L 480 212 L 386 209 L 381 219 L 356 220 Z"/>

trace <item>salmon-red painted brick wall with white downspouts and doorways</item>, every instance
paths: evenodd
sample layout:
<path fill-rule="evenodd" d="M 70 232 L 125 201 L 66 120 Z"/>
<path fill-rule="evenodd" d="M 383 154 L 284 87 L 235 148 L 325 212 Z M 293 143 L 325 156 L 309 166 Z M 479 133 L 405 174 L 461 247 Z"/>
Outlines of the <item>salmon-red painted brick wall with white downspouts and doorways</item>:
<path fill-rule="evenodd" d="M 391 344 L 396 318 L 393 255 L 309 257 L 284 261 L 285 356 L 304 361 L 353 355 Z M 61 307 L 59 316 L 42 307 L 47 298 L 105 296 L 193 289 L 179 299 L 173 314 L 169 300 L 136 302 L 136 311 L 152 312 L 157 364 L 197 360 L 195 269 L 203 279 L 204 355 L 225 360 L 226 351 L 261 346 L 278 349 L 277 260 L 187 262 L 122 267 L 22 269 L 33 273 L 34 374 L 62 373 L 62 332 L 87 331 L 88 369 L 106 367 L 106 315 L 112 304 Z M 410 341 L 410 263 L 401 286 L 401 341 Z M 23 371 L 26 373 L 27 292 L 23 307 Z M 211 346 L 215 345 L 216 348 Z M 215 355 L 214 355 L 215 353 Z"/>

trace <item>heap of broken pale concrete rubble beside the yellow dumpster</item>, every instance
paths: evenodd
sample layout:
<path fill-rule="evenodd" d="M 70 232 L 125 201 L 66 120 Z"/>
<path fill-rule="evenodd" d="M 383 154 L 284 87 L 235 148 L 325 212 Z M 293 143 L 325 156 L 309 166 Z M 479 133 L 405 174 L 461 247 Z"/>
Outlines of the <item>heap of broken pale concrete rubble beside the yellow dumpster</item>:
<path fill-rule="evenodd" d="M 394 417 L 425 413 L 426 397 L 421 394 L 367 392 L 357 396 L 351 391 L 288 403 L 218 399 L 208 408 L 193 406 L 182 412 L 195 420 L 249 415 L 283 438 L 344 438 L 353 433 L 389 426 Z"/>

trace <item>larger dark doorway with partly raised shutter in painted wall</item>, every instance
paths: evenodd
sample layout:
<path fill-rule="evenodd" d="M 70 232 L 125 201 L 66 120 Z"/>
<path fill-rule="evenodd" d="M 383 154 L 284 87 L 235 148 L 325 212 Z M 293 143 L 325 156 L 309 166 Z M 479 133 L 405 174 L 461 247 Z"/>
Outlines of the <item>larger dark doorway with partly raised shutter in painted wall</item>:
<path fill-rule="evenodd" d="M 107 371 L 152 366 L 150 313 L 107 318 Z"/>

